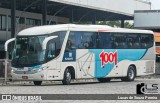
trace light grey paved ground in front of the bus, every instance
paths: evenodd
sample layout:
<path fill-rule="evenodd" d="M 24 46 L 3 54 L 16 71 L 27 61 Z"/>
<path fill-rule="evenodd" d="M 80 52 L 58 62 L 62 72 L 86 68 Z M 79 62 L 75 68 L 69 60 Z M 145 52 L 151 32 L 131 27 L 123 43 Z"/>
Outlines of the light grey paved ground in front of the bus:
<path fill-rule="evenodd" d="M 139 83 L 158 84 L 160 89 L 160 79 L 136 79 L 134 82 L 121 82 L 112 80 L 108 83 L 99 83 L 93 80 L 74 81 L 72 85 L 62 85 L 61 82 L 45 82 L 42 86 L 34 86 L 29 82 L 13 82 L 0 86 L 0 94 L 136 94 L 136 85 Z M 160 91 L 159 91 L 160 93 Z M 49 102 L 49 101 L 46 101 Z M 61 103 L 64 101 L 54 101 Z M 69 103 L 81 103 L 84 101 L 68 101 Z M 90 103 L 91 101 L 85 101 Z M 106 101 L 93 101 L 92 103 L 105 103 Z M 110 101 L 112 103 L 118 101 Z M 147 102 L 147 101 L 146 101 Z M 159 101 L 150 101 L 155 103 Z M 16 102 L 15 102 L 16 103 Z M 124 101 L 122 103 L 125 103 Z M 127 103 L 127 102 L 126 102 Z M 137 101 L 137 103 L 145 103 Z M 159 102 L 160 103 L 160 102 Z"/>

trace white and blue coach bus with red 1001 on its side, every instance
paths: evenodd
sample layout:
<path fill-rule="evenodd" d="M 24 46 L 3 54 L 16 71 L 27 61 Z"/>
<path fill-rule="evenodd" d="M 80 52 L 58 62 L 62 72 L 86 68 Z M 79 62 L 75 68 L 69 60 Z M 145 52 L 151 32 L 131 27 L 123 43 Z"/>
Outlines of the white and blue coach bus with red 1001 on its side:
<path fill-rule="evenodd" d="M 17 34 L 12 79 L 33 81 L 97 78 L 100 82 L 155 73 L 152 31 L 101 25 L 49 25 Z"/>

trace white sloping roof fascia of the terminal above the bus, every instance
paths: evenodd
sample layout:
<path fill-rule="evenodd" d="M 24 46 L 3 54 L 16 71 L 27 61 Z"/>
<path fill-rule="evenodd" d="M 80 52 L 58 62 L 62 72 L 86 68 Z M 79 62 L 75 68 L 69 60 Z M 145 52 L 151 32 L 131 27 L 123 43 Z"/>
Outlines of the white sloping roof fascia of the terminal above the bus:
<path fill-rule="evenodd" d="M 142 0 L 49 0 L 86 8 L 133 16 L 134 10 L 150 10 L 150 4 Z"/>

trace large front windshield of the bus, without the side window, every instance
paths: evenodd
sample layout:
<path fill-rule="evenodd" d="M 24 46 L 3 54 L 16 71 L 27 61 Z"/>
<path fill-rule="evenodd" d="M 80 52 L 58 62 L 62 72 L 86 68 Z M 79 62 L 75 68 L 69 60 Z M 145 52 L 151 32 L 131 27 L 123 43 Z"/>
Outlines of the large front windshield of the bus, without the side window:
<path fill-rule="evenodd" d="M 45 36 L 17 37 L 13 52 L 13 66 L 32 66 L 44 62 L 45 51 L 41 43 Z"/>

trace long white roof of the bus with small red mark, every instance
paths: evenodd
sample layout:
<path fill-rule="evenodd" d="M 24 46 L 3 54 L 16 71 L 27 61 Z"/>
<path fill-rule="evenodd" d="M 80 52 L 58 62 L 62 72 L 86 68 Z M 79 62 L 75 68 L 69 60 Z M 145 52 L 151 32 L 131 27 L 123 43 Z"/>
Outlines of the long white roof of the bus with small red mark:
<path fill-rule="evenodd" d="M 113 28 L 106 25 L 77 25 L 77 24 L 58 24 L 58 25 L 44 25 L 36 26 L 20 31 L 18 36 L 32 36 L 50 34 L 56 31 L 93 31 L 93 32 L 126 32 L 126 33 L 147 33 L 153 34 L 149 30 Z"/>

